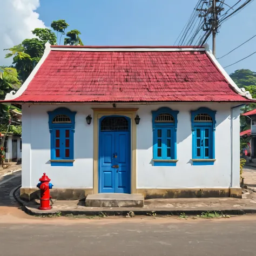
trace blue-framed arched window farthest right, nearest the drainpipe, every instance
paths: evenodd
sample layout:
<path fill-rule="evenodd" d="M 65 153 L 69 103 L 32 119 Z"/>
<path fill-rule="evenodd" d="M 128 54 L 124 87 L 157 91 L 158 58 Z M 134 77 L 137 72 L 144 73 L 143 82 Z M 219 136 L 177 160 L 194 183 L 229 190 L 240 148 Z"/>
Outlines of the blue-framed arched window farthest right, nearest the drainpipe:
<path fill-rule="evenodd" d="M 215 161 L 215 113 L 206 107 L 191 111 L 193 165 L 213 165 Z"/>

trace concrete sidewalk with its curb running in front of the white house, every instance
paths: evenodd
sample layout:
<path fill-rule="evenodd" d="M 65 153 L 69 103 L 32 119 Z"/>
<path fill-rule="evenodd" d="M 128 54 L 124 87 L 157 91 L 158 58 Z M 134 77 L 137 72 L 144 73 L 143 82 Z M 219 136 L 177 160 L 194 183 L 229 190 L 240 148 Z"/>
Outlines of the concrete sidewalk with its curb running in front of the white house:
<path fill-rule="evenodd" d="M 133 211 L 136 215 L 190 215 L 207 211 L 218 211 L 223 214 L 256 213 L 256 196 L 253 192 L 245 192 L 248 198 L 176 198 L 149 199 L 145 206 L 138 207 L 85 207 L 84 201 L 53 201 L 49 211 L 38 210 L 38 202 L 24 203 L 24 211 L 31 215 L 73 214 L 73 215 L 127 215 Z M 21 202 L 22 203 L 22 202 Z"/>

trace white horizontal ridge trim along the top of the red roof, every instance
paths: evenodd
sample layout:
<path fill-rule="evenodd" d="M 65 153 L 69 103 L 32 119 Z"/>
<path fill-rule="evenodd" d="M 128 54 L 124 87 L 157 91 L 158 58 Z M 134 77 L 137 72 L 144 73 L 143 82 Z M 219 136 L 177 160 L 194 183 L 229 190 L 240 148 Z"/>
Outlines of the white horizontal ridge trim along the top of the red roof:
<path fill-rule="evenodd" d="M 205 51 L 205 48 L 65 48 L 52 47 L 51 51 Z"/>

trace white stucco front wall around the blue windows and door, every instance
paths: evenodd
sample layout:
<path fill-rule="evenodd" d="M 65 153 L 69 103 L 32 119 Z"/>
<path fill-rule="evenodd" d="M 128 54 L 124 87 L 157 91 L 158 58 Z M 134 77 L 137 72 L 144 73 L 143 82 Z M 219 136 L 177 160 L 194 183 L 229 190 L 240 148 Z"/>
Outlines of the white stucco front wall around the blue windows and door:
<path fill-rule="evenodd" d="M 35 187 L 46 172 L 55 188 L 93 187 L 93 122 L 86 124 L 86 116 L 92 115 L 92 107 L 112 108 L 103 105 L 66 105 L 76 111 L 75 162 L 73 167 L 50 165 L 50 132 L 48 113 L 64 105 L 23 105 L 22 120 L 22 186 Z M 152 165 L 152 110 L 167 106 L 179 110 L 177 129 L 177 166 Z M 193 166 L 190 111 L 205 106 L 216 110 L 214 165 Z M 138 108 L 140 124 L 137 125 L 137 188 L 206 188 L 239 187 L 239 109 L 232 114 L 231 104 L 162 104 L 122 105 L 122 108 Z M 231 124 L 233 129 L 231 129 Z M 231 159 L 231 133 L 233 160 Z M 231 162 L 233 161 L 233 166 Z M 237 164 L 238 162 L 238 164 Z M 231 175 L 231 167 L 234 169 Z"/>

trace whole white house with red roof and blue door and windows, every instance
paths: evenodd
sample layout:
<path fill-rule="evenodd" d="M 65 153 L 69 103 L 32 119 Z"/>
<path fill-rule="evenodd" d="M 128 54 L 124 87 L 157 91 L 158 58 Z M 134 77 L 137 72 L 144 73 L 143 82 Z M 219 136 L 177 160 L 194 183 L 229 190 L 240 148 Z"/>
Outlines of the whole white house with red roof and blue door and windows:
<path fill-rule="evenodd" d="M 241 197 L 240 90 L 192 46 L 49 46 L 9 103 L 22 104 L 22 188 L 53 197 Z"/>

